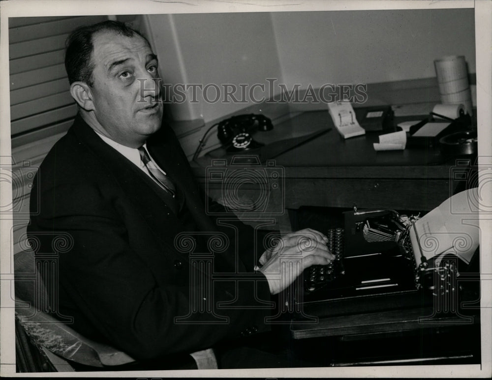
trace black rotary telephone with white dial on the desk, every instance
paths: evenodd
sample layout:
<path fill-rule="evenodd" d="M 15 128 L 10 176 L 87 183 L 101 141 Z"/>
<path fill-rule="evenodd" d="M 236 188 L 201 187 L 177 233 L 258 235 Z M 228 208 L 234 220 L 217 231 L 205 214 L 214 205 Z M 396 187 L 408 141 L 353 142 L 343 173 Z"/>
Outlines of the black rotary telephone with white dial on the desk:
<path fill-rule="evenodd" d="M 226 146 L 228 152 L 238 152 L 264 145 L 253 140 L 250 134 L 253 130 L 270 131 L 272 129 L 272 121 L 266 116 L 237 115 L 219 122 L 217 137 Z"/>

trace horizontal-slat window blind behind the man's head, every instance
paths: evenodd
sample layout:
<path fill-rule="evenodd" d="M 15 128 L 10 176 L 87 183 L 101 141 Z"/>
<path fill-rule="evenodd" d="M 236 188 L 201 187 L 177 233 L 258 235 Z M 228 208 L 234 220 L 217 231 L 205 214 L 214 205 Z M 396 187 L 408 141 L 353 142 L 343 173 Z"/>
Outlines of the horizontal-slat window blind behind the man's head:
<path fill-rule="evenodd" d="M 65 40 L 107 16 L 9 18 L 12 147 L 64 132 L 77 107 L 63 65 Z"/>

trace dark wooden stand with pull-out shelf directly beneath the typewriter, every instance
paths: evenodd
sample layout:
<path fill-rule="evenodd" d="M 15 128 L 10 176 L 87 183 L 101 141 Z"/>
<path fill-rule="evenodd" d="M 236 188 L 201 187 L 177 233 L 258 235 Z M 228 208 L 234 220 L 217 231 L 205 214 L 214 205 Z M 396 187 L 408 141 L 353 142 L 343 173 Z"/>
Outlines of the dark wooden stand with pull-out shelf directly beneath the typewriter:
<path fill-rule="evenodd" d="M 432 307 L 293 322 L 298 355 L 323 366 L 480 363 L 480 317 L 432 315 Z"/>

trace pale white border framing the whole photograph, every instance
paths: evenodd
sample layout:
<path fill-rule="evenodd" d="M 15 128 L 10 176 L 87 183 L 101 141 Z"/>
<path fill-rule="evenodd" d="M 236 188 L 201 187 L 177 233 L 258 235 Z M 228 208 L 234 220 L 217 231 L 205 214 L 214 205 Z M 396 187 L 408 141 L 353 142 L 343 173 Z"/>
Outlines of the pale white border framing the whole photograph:
<path fill-rule="evenodd" d="M 91 6 L 88 6 L 91 4 Z M 477 110 L 480 157 L 492 157 L 492 102 L 491 102 L 491 35 L 490 24 L 492 3 L 490 1 L 299 1 L 284 0 L 261 1 L 214 1 L 186 0 L 174 1 L 114 1 L 114 0 L 11 0 L 0 2 L 0 156 L 5 164 L 5 157 L 10 157 L 10 107 L 9 107 L 9 76 L 8 70 L 8 18 L 23 16 L 64 16 L 64 15 L 96 15 L 96 14 L 161 14 L 161 13 L 219 13 L 219 12 L 281 12 L 281 11 L 319 11 L 319 10 L 388 10 L 388 9 L 442 9 L 442 8 L 475 8 L 475 40 L 476 40 L 476 74 L 477 74 Z M 491 164 L 488 162 L 487 164 Z M 0 196 L 3 200 L 12 198 L 11 188 L 1 184 Z M 489 200 L 490 201 L 490 200 Z M 3 202 L 2 202 L 3 204 Z M 491 204 L 489 202 L 488 204 Z M 90 372 L 90 373 L 15 373 L 15 332 L 13 301 L 7 285 L 11 276 L 12 263 L 12 220 L 0 219 L 0 272 L 2 273 L 0 309 L 0 347 L 2 376 L 9 377 L 486 377 L 491 374 L 491 300 L 492 281 L 482 281 L 481 320 L 482 320 L 482 365 L 460 366 L 396 366 L 396 367 L 343 367 L 343 368 L 309 368 L 306 369 L 247 369 L 247 370 L 193 370 L 193 371 L 142 371 L 142 372 Z M 486 217 L 480 221 L 482 231 L 492 231 L 492 221 Z M 5 234 L 8 232 L 8 235 Z M 10 236 L 9 236 L 10 235 Z M 490 252 L 492 237 L 481 236 L 481 247 Z M 484 251 L 485 251 L 484 249 Z M 482 260 L 483 259 L 483 260 Z M 481 256 L 482 272 L 491 271 L 490 255 Z M 7 280 L 7 281 L 4 281 Z M 491 280 L 491 279 L 489 279 Z M 10 281 L 13 283 L 13 281 Z M 8 307 L 11 306 L 11 307 Z M 488 323 L 486 322 L 488 321 Z M 12 372 L 13 371 L 13 372 Z M 198 372 L 197 372 L 198 371 Z"/>

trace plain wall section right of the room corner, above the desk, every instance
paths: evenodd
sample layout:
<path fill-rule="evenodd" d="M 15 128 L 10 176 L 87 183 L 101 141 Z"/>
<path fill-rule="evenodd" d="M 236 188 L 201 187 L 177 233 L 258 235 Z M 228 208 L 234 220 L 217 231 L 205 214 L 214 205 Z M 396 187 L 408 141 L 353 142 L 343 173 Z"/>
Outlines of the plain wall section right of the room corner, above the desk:
<path fill-rule="evenodd" d="M 310 83 L 435 77 L 433 61 L 464 55 L 475 72 L 473 9 L 272 13 L 282 76 Z"/>

